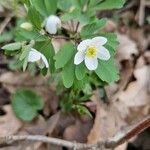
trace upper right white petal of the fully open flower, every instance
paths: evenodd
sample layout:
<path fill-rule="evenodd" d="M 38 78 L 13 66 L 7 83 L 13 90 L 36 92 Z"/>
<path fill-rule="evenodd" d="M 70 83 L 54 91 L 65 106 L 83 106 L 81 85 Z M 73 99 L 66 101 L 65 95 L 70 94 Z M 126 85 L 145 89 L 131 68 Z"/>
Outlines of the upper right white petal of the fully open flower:
<path fill-rule="evenodd" d="M 107 38 L 98 36 L 92 39 L 91 44 L 99 48 L 100 46 L 104 45 L 107 43 Z"/>

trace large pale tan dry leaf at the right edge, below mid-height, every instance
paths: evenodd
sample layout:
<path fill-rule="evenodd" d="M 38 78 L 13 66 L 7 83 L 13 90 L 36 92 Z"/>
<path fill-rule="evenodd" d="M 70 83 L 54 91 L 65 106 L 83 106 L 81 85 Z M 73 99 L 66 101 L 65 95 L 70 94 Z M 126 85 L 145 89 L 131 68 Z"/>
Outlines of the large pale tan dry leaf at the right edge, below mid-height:
<path fill-rule="evenodd" d="M 147 85 L 150 78 L 150 66 L 143 66 L 134 71 L 136 81 L 131 82 L 125 91 L 122 91 L 118 99 L 127 107 L 138 107 L 150 103 Z"/>

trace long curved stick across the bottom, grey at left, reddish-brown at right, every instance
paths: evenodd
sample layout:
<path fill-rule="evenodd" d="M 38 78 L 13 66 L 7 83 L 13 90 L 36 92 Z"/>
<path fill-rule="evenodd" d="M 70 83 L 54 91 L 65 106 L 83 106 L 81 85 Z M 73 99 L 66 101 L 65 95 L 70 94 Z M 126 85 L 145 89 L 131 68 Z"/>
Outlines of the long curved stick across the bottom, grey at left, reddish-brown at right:
<path fill-rule="evenodd" d="M 18 141 L 36 141 L 36 142 L 45 142 L 58 146 L 64 146 L 68 148 L 86 149 L 86 150 L 92 148 L 102 148 L 102 146 L 104 146 L 105 148 L 115 148 L 125 143 L 133 136 L 141 133 L 148 127 L 150 127 L 150 116 L 140 121 L 139 123 L 129 127 L 128 129 L 119 131 L 113 138 L 110 138 L 103 142 L 98 142 L 96 144 L 82 144 L 57 138 L 46 137 L 42 135 L 10 135 L 0 137 L 0 147 L 4 145 L 10 145 Z"/>

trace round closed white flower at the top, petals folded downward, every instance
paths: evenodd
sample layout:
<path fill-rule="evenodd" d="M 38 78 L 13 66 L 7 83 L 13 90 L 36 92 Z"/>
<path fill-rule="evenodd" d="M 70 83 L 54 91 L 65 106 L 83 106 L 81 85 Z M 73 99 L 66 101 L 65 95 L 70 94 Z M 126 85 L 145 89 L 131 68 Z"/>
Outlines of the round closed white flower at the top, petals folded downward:
<path fill-rule="evenodd" d="M 50 34 L 56 34 L 58 28 L 61 28 L 61 20 L 59 17 L 54 15 L 49 16 L 46 20 L 46 31 Z"/>

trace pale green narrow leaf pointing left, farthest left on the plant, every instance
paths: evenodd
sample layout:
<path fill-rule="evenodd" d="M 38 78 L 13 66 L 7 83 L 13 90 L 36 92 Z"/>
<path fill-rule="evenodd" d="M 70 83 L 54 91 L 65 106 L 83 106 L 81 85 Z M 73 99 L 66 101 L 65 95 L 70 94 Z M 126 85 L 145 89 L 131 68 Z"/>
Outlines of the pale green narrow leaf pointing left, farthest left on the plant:
<path fill-rule="evenodd" d="M 2 47 L 2 49 L 7 50 L 7 51 L 16 51 L 21 49 L 22 44 L 20 42 L 16 43 L 10 43 Z"/>

